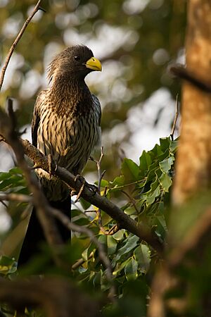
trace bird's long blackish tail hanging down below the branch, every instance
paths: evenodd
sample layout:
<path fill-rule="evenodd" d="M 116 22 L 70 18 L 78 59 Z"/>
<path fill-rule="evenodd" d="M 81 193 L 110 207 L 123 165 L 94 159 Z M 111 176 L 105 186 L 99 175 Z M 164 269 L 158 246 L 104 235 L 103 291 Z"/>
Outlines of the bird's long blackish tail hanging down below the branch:
<path fill-rule="evenodd" d="M 65 201 L 49 201 L 53 208 L 59 209 L 66 216 L 71 218 L 71 198 L 68 197 Z M 60 237 L 63 242 L 67 242 L 71 238 L 71 233 L 68 228 L 66 228 L 60 221 L 56 220 L 56 225 Z M 44 237 L 44 232 L 41 228 L 39 220 L 37 218 L 36 210 L 33 208 L 32 215 L 30 217 L 30 222 L 25 235 L 25 240 L 23 242 L 22 249 L 20 251 L 20 256 L 18 259 L 18 267 L 23 266 L 32 259 L 33 256 L 40 253 L 41 243 L 46 242 Z"/>

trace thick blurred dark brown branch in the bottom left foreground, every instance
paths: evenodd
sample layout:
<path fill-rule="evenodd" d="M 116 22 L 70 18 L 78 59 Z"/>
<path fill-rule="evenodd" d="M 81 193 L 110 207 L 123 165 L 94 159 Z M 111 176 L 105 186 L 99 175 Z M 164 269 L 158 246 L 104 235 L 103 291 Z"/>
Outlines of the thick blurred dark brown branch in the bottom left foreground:
<path fill-rule="evenodd" d="M 14 309 L 25 306 L 43 308 L 48 317 L 97 317 L 99 303 L 79 291 L 69 280 L 42 278 L 30 280 L 6 280 L 0 278 L 0 301 Z M 70 313 L 71 311 L 71 313 Z"/>

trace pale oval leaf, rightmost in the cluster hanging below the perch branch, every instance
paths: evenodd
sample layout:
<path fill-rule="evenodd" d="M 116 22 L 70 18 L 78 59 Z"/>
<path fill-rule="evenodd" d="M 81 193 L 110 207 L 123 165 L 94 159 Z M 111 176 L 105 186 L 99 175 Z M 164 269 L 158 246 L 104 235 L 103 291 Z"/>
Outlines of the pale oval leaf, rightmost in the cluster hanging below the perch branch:
<path fill-rule="evenodd" d="M 140 244 L 134 249 L 134 257 L 139 263 L 141 273 L 146 273 L 151 263 L 151 251 L 145 244 Z"/>

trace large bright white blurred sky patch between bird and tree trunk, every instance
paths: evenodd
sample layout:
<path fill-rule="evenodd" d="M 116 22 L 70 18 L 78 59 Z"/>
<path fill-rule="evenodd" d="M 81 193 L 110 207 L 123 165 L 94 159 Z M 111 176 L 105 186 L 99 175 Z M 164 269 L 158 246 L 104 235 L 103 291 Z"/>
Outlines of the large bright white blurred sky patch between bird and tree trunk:
<path fill-rule="evenodd" d="M 136 106 L 129 110 L 127 127 L 132 136 L 129 144 L 122 147 L 127 156 L 134 161 L 139 161 L 143 150 L 153 149 L 159 144 L 161 137 L 168 137 L 172 130 L 174 120 L 175 101 L 170 91 L 160 88 L 148 98 L 143 106 Z M 159 116 L 158 122 L 156 122 Z M 175 134 L 175 137 L 178 133 Z"/>

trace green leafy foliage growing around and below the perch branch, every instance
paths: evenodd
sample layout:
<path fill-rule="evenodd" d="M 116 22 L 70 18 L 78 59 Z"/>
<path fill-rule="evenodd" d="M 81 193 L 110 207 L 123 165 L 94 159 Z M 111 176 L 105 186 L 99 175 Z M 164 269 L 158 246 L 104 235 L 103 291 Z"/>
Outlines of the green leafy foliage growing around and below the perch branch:
<path fill-rule="evenodd" d="M 170 137 L 160 139 L 160 145 L 156 144 L 151 151 L 143 151 L 139 165 L 131 159 L 124 159 L 121 175 L 113 181 L 108 182 L 104 179 L 101 183 L 102 193 L 106 192 L 110 199 L 118 197 L 118 204 L 124 213 L 137 221 L 148 223 L 162 240 L 165 239 L 167 230 L 165 213 L 174 174 L 176 149 L 177 141 L 172 141 Z M 27 192 L 18 168 L 13 168 L 8 173 L 1 173 L 0 186 L 1 191 L 5 192 Z M 99 228 L 99 220 L 102 221 L 103 228 Z M 105 316 L 122 316 L 123 311 L 126 313 L 125 316 L 145 316 L 150 290 L 148 278 L 157 257 L 155 251 L 146 242 L 140 241 L 139 237 L 126 230 L 118 230 L 114 235 L 105 235 L 105 231 L 108 232 L 115 225 L 113 219 L 103 211 L 99 219 L 96 207 L 86 201 L 82 200 L 81 206 L 75 206 L 72 210 L 72 222 L 86 225 L 92 230 L 98 241 L 104 245 L 110 259 L 118 300 L 115 305 L 104 307 Z M 51 251 L 46 246 L 44 253 L 32 260 L 20 273 L 36 274 L 37 269 L 44 266 L 45 259 L 49 256 Z M 89 293 L 110 291 L 111 285 L 106 277 L 106 268 L 98 257 L 98 249 L 85 235 L 78 233 L 73 235 L 71 245 L 63 250 L 63 259 L 70 264 L 70 267 L 74 266 L 70 273 L 72 279 Z M 79 265 L 77 265 L 78 260 Z M 6 265 L 1 266 L 2 274 L 11 273 L 11 263 L 8 263 L 7 271 Z M 52 266 L 46 267 L 45 271 L 56 272 Z"/>

